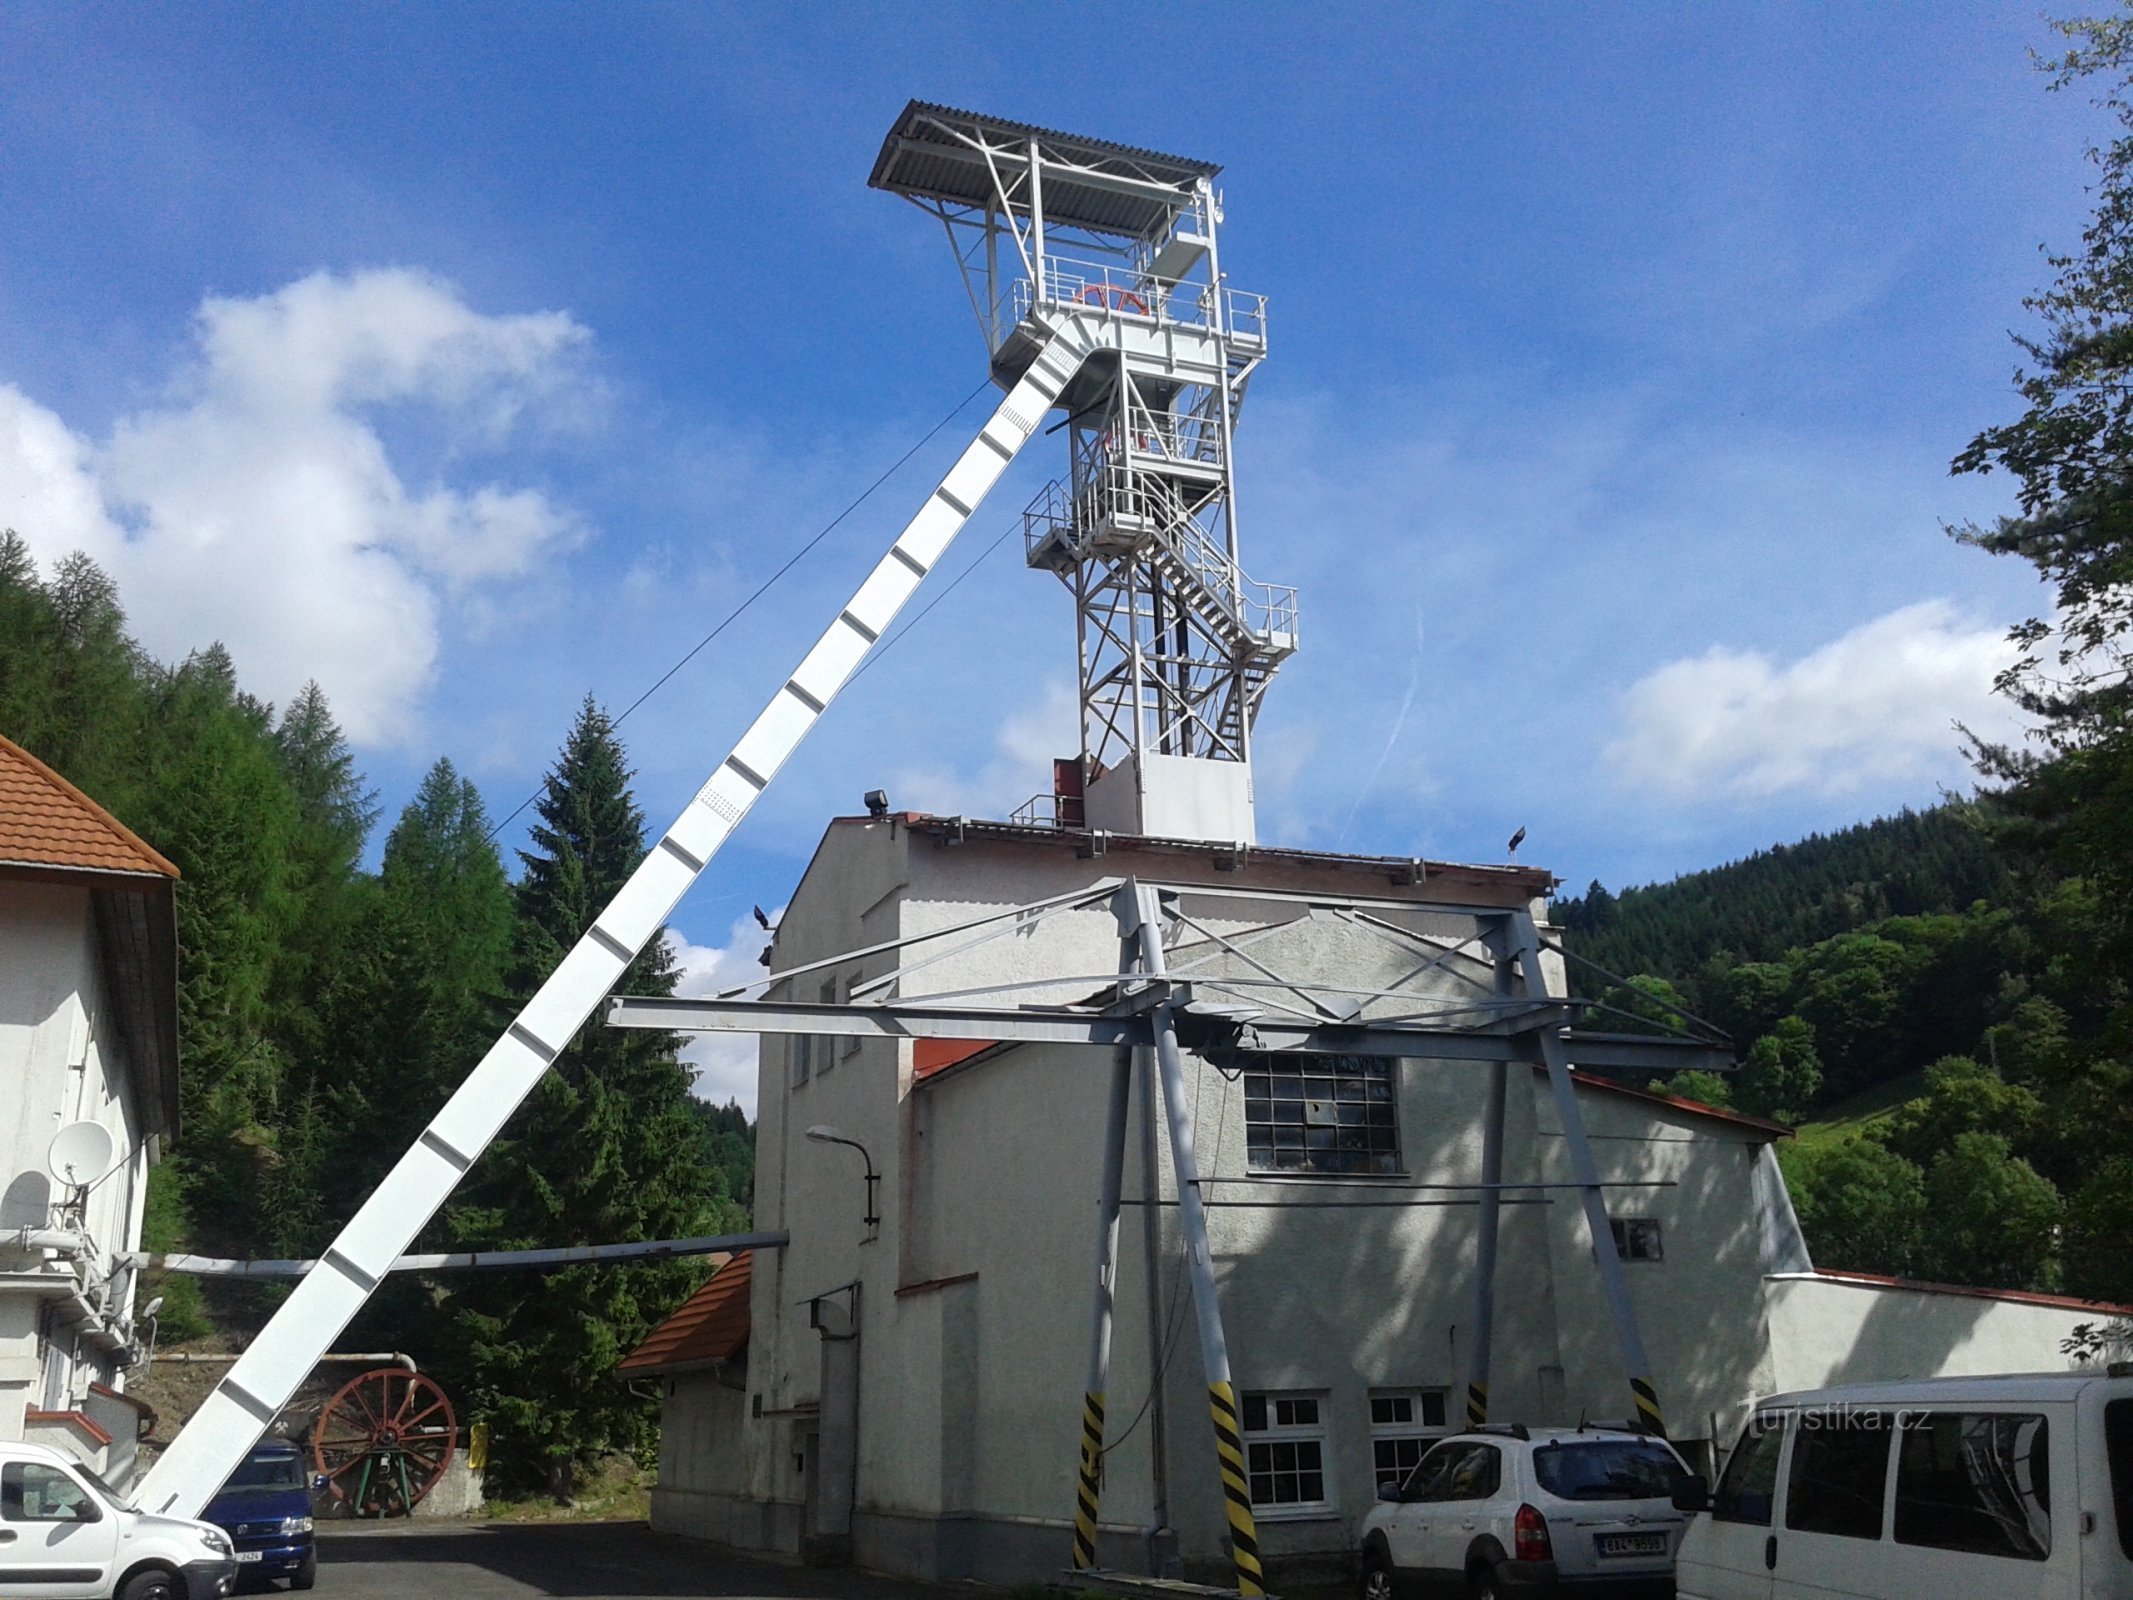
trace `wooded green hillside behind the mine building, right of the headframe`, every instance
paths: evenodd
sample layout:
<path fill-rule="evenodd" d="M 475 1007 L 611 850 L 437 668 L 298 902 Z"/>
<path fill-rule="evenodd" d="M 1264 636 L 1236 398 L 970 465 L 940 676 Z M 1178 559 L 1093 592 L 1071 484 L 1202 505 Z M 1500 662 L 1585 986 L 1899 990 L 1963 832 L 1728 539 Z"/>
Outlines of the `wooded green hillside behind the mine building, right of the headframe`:
<path fill-rule="evenodd" d="M 2003 809 L 1941 806 L 1623 894 L 1561 900 L 1570 949 L 1741 1050 L 1694 1099 L 1790 1122 L 1873 1099 L 1849 1137 L 1783 1150 L 1815 1261 L 2124 1297 L 2120 1173 L 2095 1158 L 2080 1041 L 2116 990 L 2086 958 L 2092 890 L 2020 847 Z M 1890 1090 L 1896 1090 L 1890 1094 Z"/>

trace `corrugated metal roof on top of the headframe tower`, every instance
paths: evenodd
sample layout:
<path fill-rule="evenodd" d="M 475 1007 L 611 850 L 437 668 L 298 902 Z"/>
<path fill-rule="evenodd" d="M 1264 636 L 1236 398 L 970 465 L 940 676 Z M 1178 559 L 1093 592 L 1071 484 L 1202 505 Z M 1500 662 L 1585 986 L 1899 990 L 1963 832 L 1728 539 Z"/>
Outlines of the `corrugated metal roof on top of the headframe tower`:
<path fill-rule="evenodd" d="M 913 100 L 881 143 L 866 183 L 928 201 L 994 205 L 994 173 L 1003 181 L 1020 175 L 1030 143 L 1043 156 L 1045 220 L 1126 239 L 1169 226 L 1192 186 L 1222 171 L 1160 149 Z M 994 151 L 990 162 L 985 149 Z"/>

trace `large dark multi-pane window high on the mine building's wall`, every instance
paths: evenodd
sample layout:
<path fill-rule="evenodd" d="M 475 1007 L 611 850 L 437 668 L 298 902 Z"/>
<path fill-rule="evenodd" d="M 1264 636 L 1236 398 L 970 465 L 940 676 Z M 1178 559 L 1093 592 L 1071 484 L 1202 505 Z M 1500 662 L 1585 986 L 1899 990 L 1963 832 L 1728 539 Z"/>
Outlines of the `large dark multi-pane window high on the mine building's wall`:
<path fill-rule="evenodd" d="M 1397 1173 L 1391 1056 L 1246 1056 L 1244 1141 L 1252 1171 Z"/>

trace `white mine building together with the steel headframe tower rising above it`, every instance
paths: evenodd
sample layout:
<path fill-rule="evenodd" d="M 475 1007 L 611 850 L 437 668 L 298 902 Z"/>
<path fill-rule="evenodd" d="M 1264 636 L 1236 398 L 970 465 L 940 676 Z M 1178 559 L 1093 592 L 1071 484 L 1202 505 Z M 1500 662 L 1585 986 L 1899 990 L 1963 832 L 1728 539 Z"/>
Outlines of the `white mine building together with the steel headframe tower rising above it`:
<path fill-rule="evenodd" d="M 881 147 L 1009 395 L 913 527 L 1064 414 L 1022 527 L 1073 597 L 1081 749 L 1011 823 L 879 794 L 832 823 L 759 996 L 614 1003 L 766 1035 L 755 1227 L 785 1235 L 625 1363 L 661 1380 L 661 1530 L 1252 1596 L 1344 1566 L 1378 1481 L 1474 1414 L 1638 1417 L 1709 1461 L 1758 1395 L 2060 1365 L 2099 1316 L 1815 1274 L 1785 1129 L 1604 1077 L 1723 1041 L 1572 1003 L 1549 873 L 1258 845 L 1299 621 L 1239 557 L 1267 305 L 1220 265 L 1216 175 L 921 102 Z M 821 710 L 808 663 L 761 725 Z M 702 806 L 738 817 L 785 747 L 751 730 Z M 700 823 L 655 858 L 700 866 Z"/>

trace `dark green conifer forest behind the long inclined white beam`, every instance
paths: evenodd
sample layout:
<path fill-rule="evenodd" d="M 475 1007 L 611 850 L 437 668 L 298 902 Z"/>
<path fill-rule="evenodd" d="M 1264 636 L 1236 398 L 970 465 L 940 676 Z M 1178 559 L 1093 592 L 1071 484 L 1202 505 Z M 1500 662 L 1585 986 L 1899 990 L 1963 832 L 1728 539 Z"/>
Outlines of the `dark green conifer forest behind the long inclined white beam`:
<path fill-rule="evenodd" d="M 183 1129 L 151 1184 L 149 1248 L 318 1254 L 646 847 L 623 747 L 587 702 L 516 875 L 448 759 L 369 873 L 380 819 L 316 687 L 275 708 L 220 646 L 147 659 L 96 565 L 38 574 L 15 533 L 0 535 L 0 732 L 183 873 Z M 674 977 L 655 943 L 621 988 L 663 994 Z M 744 1227 L 753 1129 L 695 1101 L 674 1052 L 670 1035 L 580 1030 L 422 1248 Z M 552 1487 L 653 1438 L 653 1408 L 612 1370 L 700 1278 L 651 1263 L 392 1280 L 350 1338 L 418 1350 L 491 1423 L 501 1487 Z M 277 1299 L 245 1286 L 209 1303 L 177 1278 L 158 1293 L 164 1340 L 209 1316 L 254 1323 Z"/>

